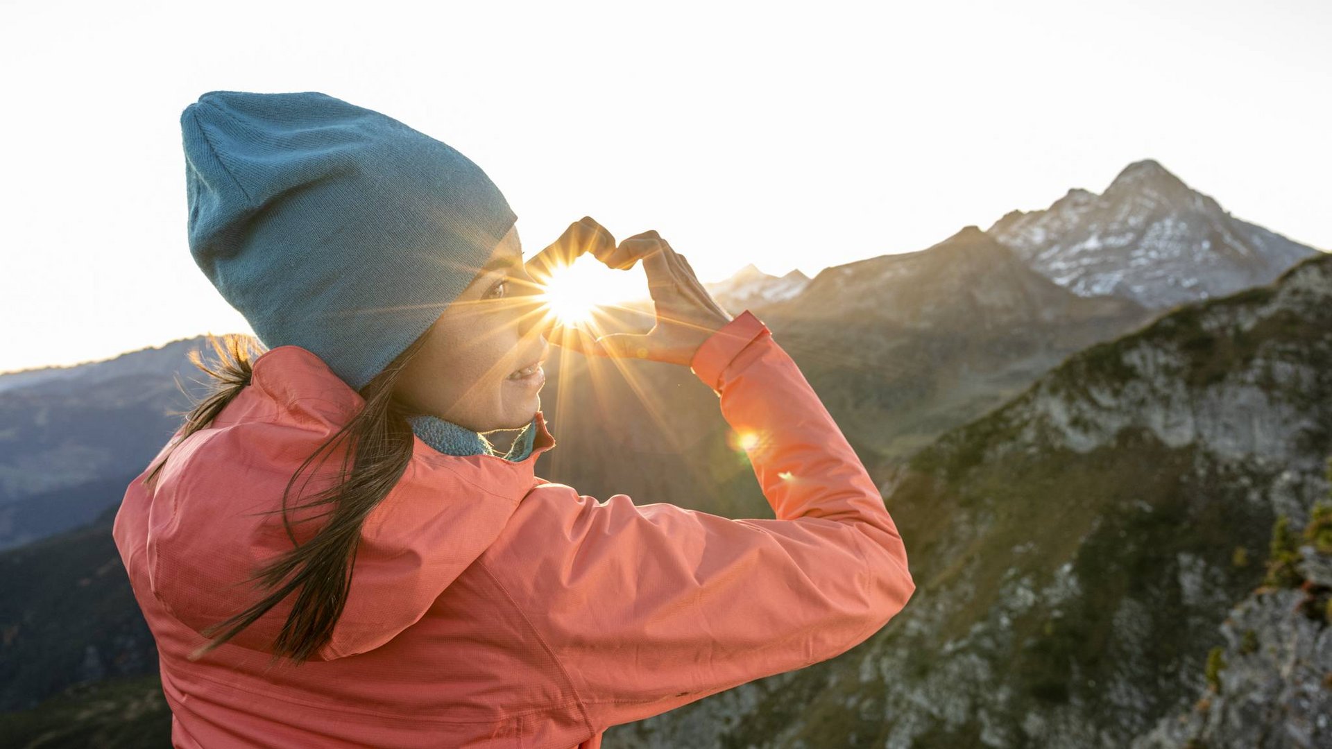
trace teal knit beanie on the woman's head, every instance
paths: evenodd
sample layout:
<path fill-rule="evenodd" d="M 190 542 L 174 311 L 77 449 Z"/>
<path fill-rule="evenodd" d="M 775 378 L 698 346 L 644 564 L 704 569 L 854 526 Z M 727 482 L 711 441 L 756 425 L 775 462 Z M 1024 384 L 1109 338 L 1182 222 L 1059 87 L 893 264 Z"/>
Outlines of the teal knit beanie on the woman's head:
<path fill-rule="evenodd" d="M 194 263 L 268 348 L 308 349 L 357 390 L 517 220 L 462 153 L 325 93 L 210 91 L 180 127 Z"/>

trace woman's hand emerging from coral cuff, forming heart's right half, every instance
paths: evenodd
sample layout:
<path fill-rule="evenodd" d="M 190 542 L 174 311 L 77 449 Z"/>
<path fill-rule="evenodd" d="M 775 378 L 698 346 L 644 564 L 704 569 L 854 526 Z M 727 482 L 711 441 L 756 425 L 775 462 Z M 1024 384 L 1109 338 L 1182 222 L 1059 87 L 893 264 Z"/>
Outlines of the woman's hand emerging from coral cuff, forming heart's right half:
<path fill-rule="evenodd" d="M 591 224 L 601 229 L 595 221 Z M 699 283 L 689 260 L 655 231 L 634 235 L 610 251 L 603 240 L 591 241 L 591 252 L 609 268 L 629 271 L 638 260 L 643 261 L 647 291 L 657 307 L 657 324 L 647 333 L 609 333 L 599 339 L 582 329 L 565 329 L 551 343 L 589 356 L 646 359 L 689 367 L 698 347 L 733 320 Z"/>

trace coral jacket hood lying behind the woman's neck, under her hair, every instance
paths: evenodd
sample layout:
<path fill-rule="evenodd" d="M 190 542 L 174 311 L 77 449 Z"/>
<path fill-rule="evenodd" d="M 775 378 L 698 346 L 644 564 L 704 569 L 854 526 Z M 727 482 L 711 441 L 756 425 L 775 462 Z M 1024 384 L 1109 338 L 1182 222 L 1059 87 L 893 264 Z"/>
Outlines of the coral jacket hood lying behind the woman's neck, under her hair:
<path fill-rule="evenodd" d="M 208 428 L 176 445 L 156 484 L 143 488 L 151 494 L 151 588 L 176 618 L 201 632 L 266 594 L 248 578 L 294 548 L 292 536 L 302 544 L 322 526 L 329 505 L 294 505 L 333 485 L 345 448 L 326 450 L 324 464 L 292 485 L 292 536 L 281 512 L 288 481 L 364 402 L 314 353 L 277 347 L 254 360 L 250 385 Z M 413 437 L 406 470 L 365 520 L 346 605 L 314 660 L 384 645 L 494 542 L 518 502 L 543 482 L 534 464 L 555 441 L 541 412 L 535 428 L 531 453 L 521 461 L 444 454 Z M 228 645 L 272 653 L 294 597 Z"/>

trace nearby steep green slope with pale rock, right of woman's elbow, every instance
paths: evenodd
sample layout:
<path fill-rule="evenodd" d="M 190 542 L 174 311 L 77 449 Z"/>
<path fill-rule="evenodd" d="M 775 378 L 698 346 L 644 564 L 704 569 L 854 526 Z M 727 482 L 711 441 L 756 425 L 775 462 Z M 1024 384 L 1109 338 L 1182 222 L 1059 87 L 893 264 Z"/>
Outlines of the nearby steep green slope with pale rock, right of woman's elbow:
<path fill-rule="evenodd" d="M 1245 560 L 1277 514 L 1307 522 L 1329 454 L 1319 256 L 1070 356 L 895 469 L 918 588 L 868 641 L 606 742 L 1127 746 L 1193 708 L 1217 625 L 1263 577 Z"/>

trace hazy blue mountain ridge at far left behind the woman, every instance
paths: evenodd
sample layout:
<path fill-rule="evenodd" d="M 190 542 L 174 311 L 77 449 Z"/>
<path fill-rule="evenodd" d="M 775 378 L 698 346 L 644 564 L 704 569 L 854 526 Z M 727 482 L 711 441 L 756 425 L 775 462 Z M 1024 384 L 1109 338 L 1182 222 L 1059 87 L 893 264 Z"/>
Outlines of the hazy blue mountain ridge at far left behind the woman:
<path fill-rule="evenodd" d="M 202 341 L 0 374 L 0 549 L 88 522 L 108 481 L 124 492 L 202 392 L 185 357 Z"/>

